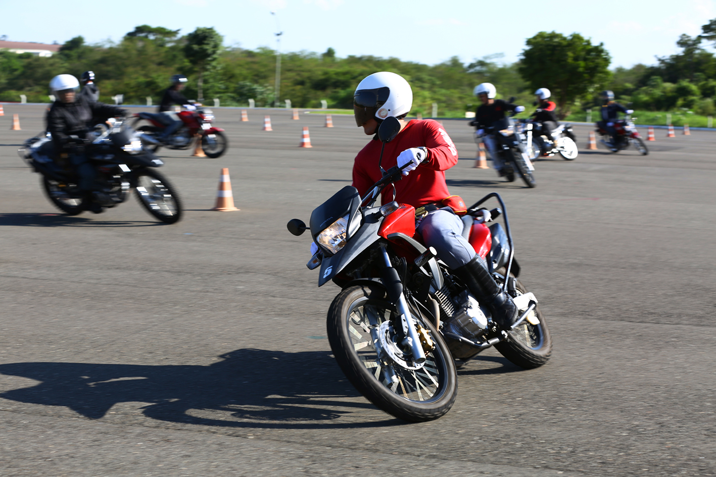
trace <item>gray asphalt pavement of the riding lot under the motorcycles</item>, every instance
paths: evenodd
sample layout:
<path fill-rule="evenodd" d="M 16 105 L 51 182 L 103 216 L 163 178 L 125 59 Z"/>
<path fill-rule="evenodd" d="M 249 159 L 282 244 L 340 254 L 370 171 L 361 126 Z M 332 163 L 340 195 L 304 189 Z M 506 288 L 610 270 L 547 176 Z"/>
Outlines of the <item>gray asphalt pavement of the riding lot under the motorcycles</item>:
<path fill-rule="evenodd" d="M 54 210 L 16 154 L 44 107 L 4 104 L 1 476 L 716 474 L 716 134 L 657 131 L 642 157 L 585 150 L 577 126 L 579 157 L 536 162 L 530 190 L 474 169 L 471 128 L 443 120 L 450 192 L 503 195 L 554 349 L 536 370 L 478 355 L 450 413 L 407 424 L 342 375 L 339 289 L 286 230 L 349 185 L 369 138 L 350 116 L 277 110 L 263 132 L 264 111 L 214 111 L 224 157 L 160 152 L 186 209 L 162 225 L 133 198 Z M 211 211 L 222 167 L 238 212 Z"/>

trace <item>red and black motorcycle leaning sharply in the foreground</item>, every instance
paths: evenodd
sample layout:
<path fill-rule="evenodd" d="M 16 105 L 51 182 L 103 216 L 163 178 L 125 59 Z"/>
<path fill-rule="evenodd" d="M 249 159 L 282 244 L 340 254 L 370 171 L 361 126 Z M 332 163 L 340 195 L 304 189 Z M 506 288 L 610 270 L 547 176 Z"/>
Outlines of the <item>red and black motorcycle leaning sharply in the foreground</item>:
<path fill-rule="evenodd" d="M 378 136 L 385 143 L 398 132 L 400 123 L 388 117 Z M 415 233 L 415 208 L 395 201 L 374 205 L 385 187 L 401 179 L 395 166 L 365 197 L 344 187 L 313 211 L 310 227 L 299 219 L 287 227 L 294 235 L 310 230 L 318 251 L 306 266 L 319 268 L 318 285 L 332 280 L 341 287 L 326 328 L 348 380 L 385 412 L 430 421 L 455 402 L 456 365 L 494 347 L 516 365 L 536 368 L 549 359 L 552 342 L 535 295 L 517 279 L 502 198 L 493 192 L 469 207 L 463 235 L 520 310 L 508 329 L 498 327 L 435 249 L 425 247 Z M 501 210 L 480 207 L 491 198 Z M 494 222 L 500 215 L 505 228 Z"/>

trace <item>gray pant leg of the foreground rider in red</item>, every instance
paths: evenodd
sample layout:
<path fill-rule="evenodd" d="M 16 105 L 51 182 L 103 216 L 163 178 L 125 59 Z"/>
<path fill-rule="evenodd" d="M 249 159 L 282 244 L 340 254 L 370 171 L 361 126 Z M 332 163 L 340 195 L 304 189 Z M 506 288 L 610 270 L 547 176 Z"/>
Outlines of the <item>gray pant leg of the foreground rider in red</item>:
<path fill-rule="evenodd" d="M 422 241 L 434 247 L 437 257 L 455 270 L 475 256 L 475 249 L 463 237 L 463 221 L 449 210 L 438 209 L 428 213 L 417 226 Z"/>

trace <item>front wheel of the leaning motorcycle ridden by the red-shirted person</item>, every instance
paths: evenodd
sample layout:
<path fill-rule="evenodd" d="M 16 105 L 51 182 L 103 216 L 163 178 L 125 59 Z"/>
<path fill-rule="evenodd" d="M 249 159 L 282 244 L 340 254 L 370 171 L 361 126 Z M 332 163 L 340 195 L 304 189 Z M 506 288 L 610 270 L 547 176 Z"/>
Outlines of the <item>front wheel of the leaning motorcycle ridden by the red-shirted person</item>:
<path fill-rule="evenodd" d="M 392 323 L 395 307 L 374 285 L 347 287 L 333 300 L 326 328 L 331 349 L 348 380 L 374 405 L 410 422 L 432 421 L 448 413 L 458 395 L 455 363 L 435 327 L 413 312 L 425 363 L 415 365 L 400 345 Z M 405 358 L 405 359 L 404 359 Z"/>

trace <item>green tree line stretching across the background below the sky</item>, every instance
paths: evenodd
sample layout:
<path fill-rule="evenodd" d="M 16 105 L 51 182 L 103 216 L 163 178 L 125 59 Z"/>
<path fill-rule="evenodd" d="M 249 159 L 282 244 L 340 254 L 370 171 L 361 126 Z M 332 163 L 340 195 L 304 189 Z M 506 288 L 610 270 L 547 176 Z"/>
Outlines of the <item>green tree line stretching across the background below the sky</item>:
<path fill-rule="evenodd" d="M 47 84 L 55 74 L 79 77 L 86 70 L 97 74 L 100 100 L 112 102 L 123 94 L 125 104 L 158 102 L 173 74 L 185 74 L 190 98 L 218 98 L 223 106 L 274 104 L 276 51 L 221 46 L 213 28 L 198 28 L 180 36 L 179 30 L 137 26 L 121 41 L 87 44 L 82 36 L 62 45 L 58 54 L 45 58 L 0 51 L 0 101 L 48 102 Z M 609 52 L 579 34 L 564 36 L 540 32 L 526 41 L 520 61 L 500 62 L 501 55 L 483 56 L 471 63 L 457 56 L 435 65 L 403 62 L 378 56 L 340 58 L 334 49 L 324 53 L 296 51 L 281 56 L 281 97 L 294 107 L 318 108 L 326 100 L 331 108 L 351 108 L 356 85 L 368 74 L 390 71 L 410 82 L 412 114 L 430 114 L 438 104 L 440 116 L 463 117 L 474 111 L 473 88 L 491 82 L 498 97 L 517 97 L 531 103 L 537 87 L 553 91 L 562 117 L 598 103 L 601 89 L 613 89 L 621 102 L 652 111 L 694 109 L 712 114 L 716 99 L 716 58 L 705 48 L 716 43 L 716 19 L 702 34 L 682 35 L 679 54 L 657 59 L 657 64 L 609 70 Z"/>

